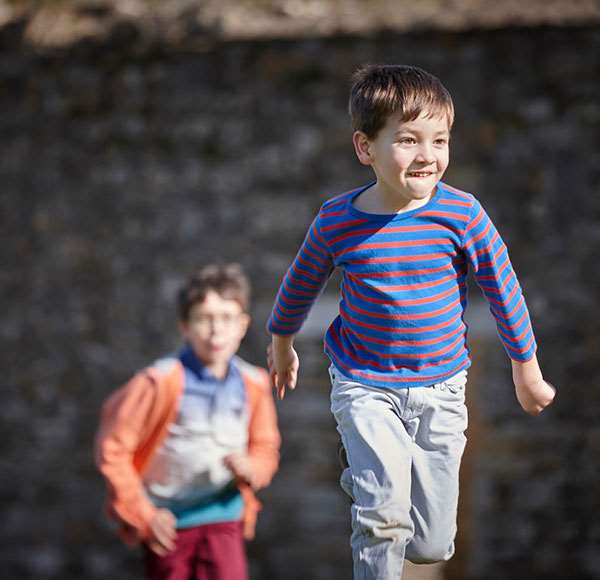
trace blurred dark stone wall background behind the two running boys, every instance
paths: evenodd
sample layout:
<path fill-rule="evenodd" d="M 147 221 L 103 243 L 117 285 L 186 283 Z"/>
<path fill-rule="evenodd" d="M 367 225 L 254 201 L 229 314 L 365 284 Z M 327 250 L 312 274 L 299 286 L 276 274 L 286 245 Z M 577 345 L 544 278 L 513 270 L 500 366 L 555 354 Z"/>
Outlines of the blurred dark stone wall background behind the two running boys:
<path fill-rule="evenodd" d="M 346 102 L 365 63 L 438 75 L 457 109 L 450 184 L 475 193 L 524 288 L 555 405 L 525 415 L 480 292 L 469 314 L 458 551 L 444 580 L 600 578 L 598 0 L 0 0 L 0 568 L 141 578 L 103 517 L 103 399 L 180 346 L 174 294 L 235 260 L 242 354 L 320 204 L 370 179 Z M 278 403 L 252 580 L 349 580 L 321 336 L 334 278 Z M 412 575 L 412 576 L 411 576 Z"/>

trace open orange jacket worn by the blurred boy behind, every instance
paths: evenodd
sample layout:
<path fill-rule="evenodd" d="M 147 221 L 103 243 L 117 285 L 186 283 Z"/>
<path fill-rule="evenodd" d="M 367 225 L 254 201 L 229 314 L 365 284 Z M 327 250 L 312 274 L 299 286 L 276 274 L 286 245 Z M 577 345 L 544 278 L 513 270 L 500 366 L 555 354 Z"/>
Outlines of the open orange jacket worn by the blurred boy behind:
<path fill-rule="evenodd" d="M 148 538 L 157 508 L 148 499 L 142 477 L 175 419 L 183 393 L 184 370 L 178 359 L 149 367 L 117 389 L 104 403 L 96 434 L 96 465 L 108 485 L 107 511 L 130 544 Z M 267 372 L 240 358 L 235 361 L 246 386 L 249 410 L 248 454 L 254 487 L 265 487 L 277 471 L 281 438 Z M 239 484 L 244 498 L 244 537 L 252 539 L 261 508 L 254 490 Z"/>

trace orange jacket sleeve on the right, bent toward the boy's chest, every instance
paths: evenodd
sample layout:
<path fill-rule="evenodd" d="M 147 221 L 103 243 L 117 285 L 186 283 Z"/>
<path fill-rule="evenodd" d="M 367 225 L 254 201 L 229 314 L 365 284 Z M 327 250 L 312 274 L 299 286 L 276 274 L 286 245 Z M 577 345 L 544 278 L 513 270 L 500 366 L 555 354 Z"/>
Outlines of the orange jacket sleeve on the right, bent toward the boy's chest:
<path fill-rule="evenodd" d="M 281 436 L 268 373 L 258 369 L 259 380 L 251 386 L 248 454 L 252 462 L 254 488 L 266 487 L 279 467 Z"/>

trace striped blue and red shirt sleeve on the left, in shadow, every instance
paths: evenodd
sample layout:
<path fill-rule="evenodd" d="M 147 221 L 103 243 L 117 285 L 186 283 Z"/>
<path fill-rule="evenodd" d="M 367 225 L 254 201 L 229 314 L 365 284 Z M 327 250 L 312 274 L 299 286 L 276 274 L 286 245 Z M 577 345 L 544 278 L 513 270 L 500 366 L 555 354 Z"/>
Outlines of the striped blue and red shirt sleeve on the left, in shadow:
<path fill-rule="evenodd" d="M 283 278 L 267 329 L 272 334 L 296 334 L 331 276 L 334 264 L 317 216 Z"/>

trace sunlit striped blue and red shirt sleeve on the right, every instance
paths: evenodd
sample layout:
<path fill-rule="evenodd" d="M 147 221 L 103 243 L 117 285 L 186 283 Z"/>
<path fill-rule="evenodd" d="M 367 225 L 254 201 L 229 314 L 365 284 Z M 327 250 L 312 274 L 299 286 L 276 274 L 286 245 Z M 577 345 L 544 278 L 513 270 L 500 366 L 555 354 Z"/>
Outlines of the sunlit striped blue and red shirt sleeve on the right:
<path fill-rule="evenodd" d="M 477 200 L 465 228 L 463 250 L 488 301 L 508 356 L 515 361 L 528 361 L 537 345 L 523 292 L 506 245 Z"/>

